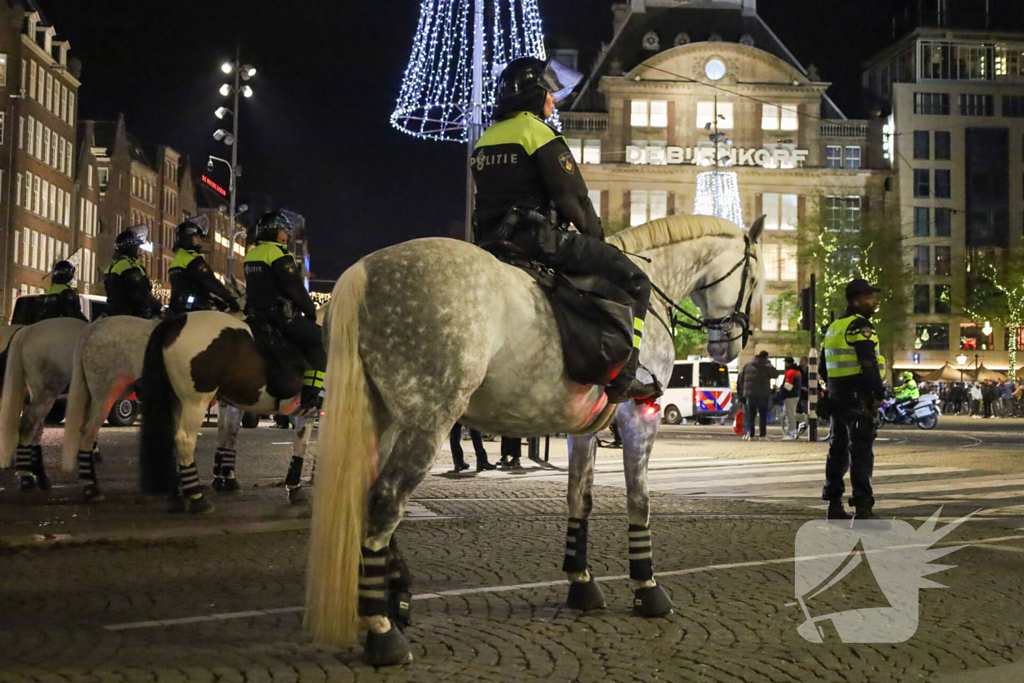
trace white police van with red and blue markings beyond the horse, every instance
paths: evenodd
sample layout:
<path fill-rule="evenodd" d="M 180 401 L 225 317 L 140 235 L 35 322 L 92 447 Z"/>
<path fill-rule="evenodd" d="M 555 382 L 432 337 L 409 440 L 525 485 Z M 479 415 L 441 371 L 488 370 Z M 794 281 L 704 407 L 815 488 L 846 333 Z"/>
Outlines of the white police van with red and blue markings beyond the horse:
<path fill-rule="evenodd" d="M 729 369 L 713 360 L 676 360 L 660 401 L 663 420 L 670 425 L 726 417 L 732 408 Z"/>

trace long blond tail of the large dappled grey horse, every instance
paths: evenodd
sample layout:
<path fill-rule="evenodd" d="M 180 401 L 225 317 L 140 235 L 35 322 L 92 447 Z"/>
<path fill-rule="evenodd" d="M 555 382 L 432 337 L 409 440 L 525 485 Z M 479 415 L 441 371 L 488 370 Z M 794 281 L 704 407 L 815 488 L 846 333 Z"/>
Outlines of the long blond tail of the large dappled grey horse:
<path fill-rule="evenodd" d="M 306 627 L 317 641 L 337 645 L 356 639 L 367 496 L 377 477 L 378 435 L 359 357 L 366 286 L 359 261 L 342 274 L 331 297 L 327 398 L 306 575 Z"/>

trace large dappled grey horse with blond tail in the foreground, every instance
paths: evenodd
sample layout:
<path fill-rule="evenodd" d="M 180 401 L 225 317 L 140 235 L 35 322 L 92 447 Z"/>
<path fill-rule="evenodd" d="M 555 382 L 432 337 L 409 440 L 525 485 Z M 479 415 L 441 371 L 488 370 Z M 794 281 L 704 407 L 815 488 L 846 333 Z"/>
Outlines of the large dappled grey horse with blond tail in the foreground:
<path fill-rule="evenodd" d="M 639 255 L 670 298 L 691 297 L 703 314 L 709 354 L 728 362 L 745 342 L 764 280 L 763 225 L 761 218 L 744 233 L 720 218 L 678 216 L 608 242 Z M 412 657 L 400 631 L 410 574 L 392 535 L 457 421 L 493 434 L 579 435 L 569 442 L 562 568 L 568 605 L 593 609 L 604 605 L 587 567 L 594 432 L 613 412 L 624 443 L 635 611 L 672 611 L 654 581 L 648 525 L 647 461 L 659 416 L 635 402 L 616 410 L 601 387 L 565 377 L 551 306 L 527 273 L 464 242 L 416 240 L 346 270 L 331 315 L 307 563 L 306 625 L 316 640 L 354 642 L 361 626 L 370 664 Z M 645 329 L 641 362 L 667 381 L 672 335 L 654 315 Z"/>

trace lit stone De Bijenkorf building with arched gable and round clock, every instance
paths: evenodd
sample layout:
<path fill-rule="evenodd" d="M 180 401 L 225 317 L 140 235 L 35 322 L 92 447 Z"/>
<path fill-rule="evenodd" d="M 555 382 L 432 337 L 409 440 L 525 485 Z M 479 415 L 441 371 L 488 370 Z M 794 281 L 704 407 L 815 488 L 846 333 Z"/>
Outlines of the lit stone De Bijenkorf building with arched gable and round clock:
<path fill-rule="evenodd" d="M 735 174 L 741 221 L 767 216 L 768 282 L 745 353 L 779 354 L 773 333 L 791 321 L 768 314 L 767 304 L 803 287 L 798 222 L 819 201 L 828 220 L 858 220 L 868 202 L 882 201 L 890 171 L 870 163 L 868 122 L 844 116 L 829 84 L 758 16 L 756 0 L 697 5 L 614 5 L 613 38 L 559 116 L 606 232 L 708 213 L 694 210 L 709 199 L 698 176 L 716 157 Z"/>

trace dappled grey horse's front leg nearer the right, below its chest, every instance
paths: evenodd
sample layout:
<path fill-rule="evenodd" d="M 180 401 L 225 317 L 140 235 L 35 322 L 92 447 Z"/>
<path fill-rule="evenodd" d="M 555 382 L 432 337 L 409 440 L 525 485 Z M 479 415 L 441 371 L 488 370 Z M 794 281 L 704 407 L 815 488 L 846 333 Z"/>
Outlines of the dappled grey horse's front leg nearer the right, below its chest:
<path fill-rule="evenodd" d="M 647 464 L 657 436 L 658 413 L 633 401 L 618 408 L 615 421 L 623 438 L 623 468 L 626 473 L 626 509 L 629 516 L 630 579 L 633 580 L 633 611 L 641 616 L 672 613 L 672 599 L 654 581 L 650 542 L 650 492 Z"/>

